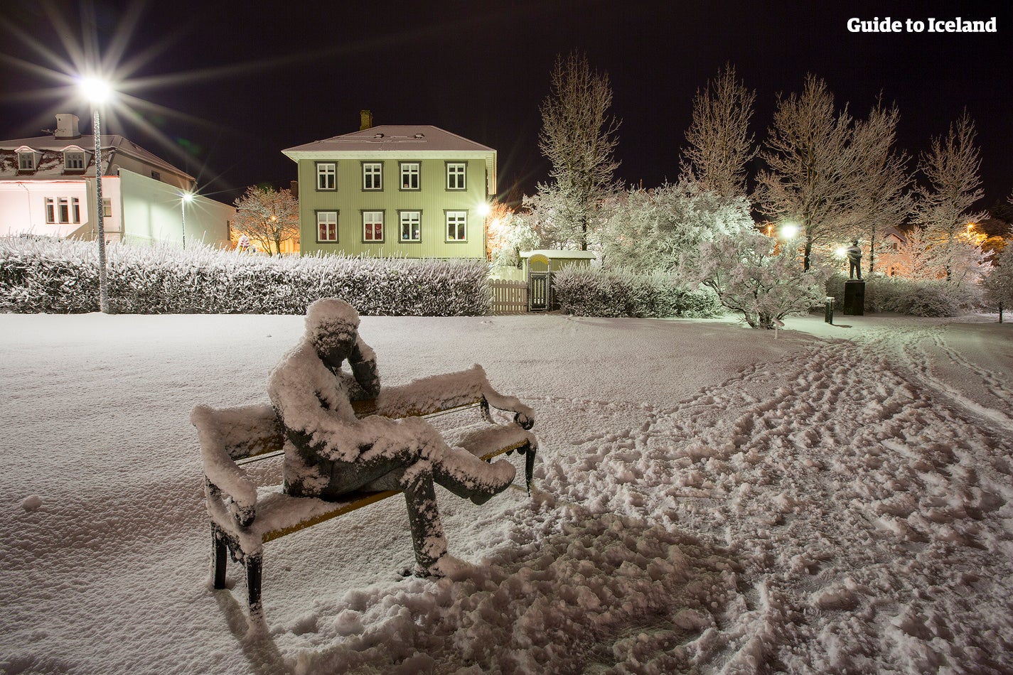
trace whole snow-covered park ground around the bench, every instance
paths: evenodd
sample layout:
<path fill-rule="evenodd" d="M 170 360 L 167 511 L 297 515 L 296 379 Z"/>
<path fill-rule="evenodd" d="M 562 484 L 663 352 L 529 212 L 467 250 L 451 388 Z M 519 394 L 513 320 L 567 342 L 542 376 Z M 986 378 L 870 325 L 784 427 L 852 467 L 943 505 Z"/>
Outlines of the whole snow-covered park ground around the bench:
<path fill-rule="evenodd" d="M 302 318 L 0 315 L 0 672 L 1013 672 L 995 319 L 365 318 L 385 383 L 534 407 L 537 489 L 443 493 L 439 581 L 400 499 L 266 544 L 257 638 L 188 416 L 265 401 Z"/>

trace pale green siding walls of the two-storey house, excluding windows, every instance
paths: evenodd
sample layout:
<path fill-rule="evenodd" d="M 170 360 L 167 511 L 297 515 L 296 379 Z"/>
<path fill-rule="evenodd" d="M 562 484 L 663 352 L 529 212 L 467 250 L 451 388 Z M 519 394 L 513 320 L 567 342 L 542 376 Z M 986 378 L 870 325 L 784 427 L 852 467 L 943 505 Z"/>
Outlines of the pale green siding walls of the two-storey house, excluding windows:
<path fill-rule="evenodd" d="M 317 190 L 316 166 L 328 159 L 299 161 L 299 213 L 302 253 L 346 253 L 348 255 L 405 256 L 409 258 L 484 258 L 485 223 L 479 206 L 486 201 L 485 162 L 462 158 L 418 159 L 410 156 L 385 158 L 383 189 L 363 190 L 363 161 L 334 160 L 337 189 Z M 369 160 L 371 162 L 381 160 Z M 418 190 L 401 190 L 400 162 L 419 163 Z M 448 190 L 447 162 L 467 163 L 466 190 Z M 337 243 L 317 241 L 317 212 L 337 210 Z M 363 210 L 384 213 L 384 241 L 363 241 Z M 400 241 L 400 210 L 421 212 L 421 241 Z M 449 242 L 446 210 L 467 212 L 467 241 Z"/>

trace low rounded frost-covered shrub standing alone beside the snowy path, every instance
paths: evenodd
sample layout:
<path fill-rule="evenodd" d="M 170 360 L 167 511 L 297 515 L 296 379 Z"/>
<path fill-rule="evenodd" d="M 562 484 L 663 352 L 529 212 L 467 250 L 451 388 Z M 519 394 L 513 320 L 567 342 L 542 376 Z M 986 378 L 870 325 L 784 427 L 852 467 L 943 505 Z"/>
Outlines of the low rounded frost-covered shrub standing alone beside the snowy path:
<path fill-rule="evenodd" d="M 702 242 L 684 255 L 680 275 L 711 288 L 752 328 L 774 328 L 775 320 L 819 305 L 828 276 L 816 264 L 802 269 L 793 247 L 755 230 Z"/>

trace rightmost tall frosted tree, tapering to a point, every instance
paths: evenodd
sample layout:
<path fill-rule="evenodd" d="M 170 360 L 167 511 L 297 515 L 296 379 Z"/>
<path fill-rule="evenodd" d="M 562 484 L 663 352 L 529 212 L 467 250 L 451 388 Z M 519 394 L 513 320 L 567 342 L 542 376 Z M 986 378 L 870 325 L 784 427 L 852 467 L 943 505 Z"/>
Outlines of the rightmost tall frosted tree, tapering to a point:
<path fill-rule="evenodd" d="M 976 136 L 975 122 L 964 110 L 950 123 L 945 139 L 932 140 L 931 150 L 922 154 L 919 163 L 927 185 L 916 190 L 914 221 L 926 229 L 932 256 L 947 281 L 966 280 L 980 267 L 967 251 L 968 225 L 986 216 L 972 210 L 982 198 L 982 159 Z"/>

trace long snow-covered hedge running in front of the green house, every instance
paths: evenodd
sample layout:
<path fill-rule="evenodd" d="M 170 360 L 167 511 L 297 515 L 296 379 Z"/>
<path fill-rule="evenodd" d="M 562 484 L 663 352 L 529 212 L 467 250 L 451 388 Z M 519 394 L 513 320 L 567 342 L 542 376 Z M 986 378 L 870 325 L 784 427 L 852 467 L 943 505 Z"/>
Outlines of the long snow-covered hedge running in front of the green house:
<path fill-rule="evenodd" d="M 204 246 L 110 245 L 109 306 L 120 314 L 303 314 L 339 298 L 360 314 L 474 316 L 489 310 L 477 261 L 267 257 Z M 0 238 L 0 311 L 98 311 L 94 242 Z"/>

